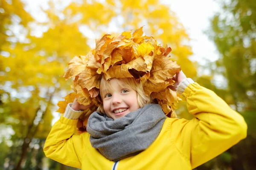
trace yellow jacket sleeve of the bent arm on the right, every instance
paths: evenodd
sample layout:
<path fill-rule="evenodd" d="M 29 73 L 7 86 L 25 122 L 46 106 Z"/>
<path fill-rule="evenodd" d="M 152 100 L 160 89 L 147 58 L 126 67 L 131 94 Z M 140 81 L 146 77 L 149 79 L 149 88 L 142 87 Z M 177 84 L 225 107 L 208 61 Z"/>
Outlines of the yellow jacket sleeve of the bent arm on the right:
<path fill-rule="evenodd" d="M 244 118 L 213 91 L 195 82 L 188 85 L 183 96 L 189 113 L 195 118 L 190 121 L 176 119 L 172 126 L 177 127 L 173 140 L 190 161 L 192 169 L 218 156 L 247 136 Z"/>

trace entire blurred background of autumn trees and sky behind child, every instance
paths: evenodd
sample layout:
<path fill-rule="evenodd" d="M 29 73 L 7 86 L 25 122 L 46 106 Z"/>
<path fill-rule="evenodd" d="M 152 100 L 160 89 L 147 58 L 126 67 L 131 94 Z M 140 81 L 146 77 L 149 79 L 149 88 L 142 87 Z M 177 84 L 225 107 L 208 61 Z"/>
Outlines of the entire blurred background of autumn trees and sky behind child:
<path fill-rule="evenodd" d="M 43 153 L 71 92 L 60 76 L 96 38 L 141 26 L 248 124 L 246 139 L 196 170 L 256 169 L 255 0 L 0 0 L 0 170 L 75 170 Z M 186 103 L 176 112 L 192 119 Z"/>

